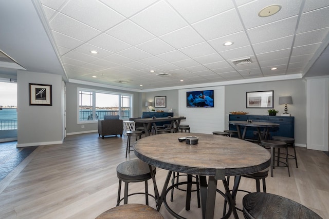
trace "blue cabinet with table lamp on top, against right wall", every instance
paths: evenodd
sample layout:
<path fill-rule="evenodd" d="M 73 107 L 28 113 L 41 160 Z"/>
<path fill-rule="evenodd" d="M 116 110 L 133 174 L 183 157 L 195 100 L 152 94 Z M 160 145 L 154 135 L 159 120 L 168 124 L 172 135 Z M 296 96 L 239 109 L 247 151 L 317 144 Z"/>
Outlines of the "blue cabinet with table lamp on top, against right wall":
<path fill-rule="evenodd" d="M 236 115 L 230 114 L 229 121 L 257 121 L 270 122 L 280 124 L 277 128 L 270 130 L 271 136 L 284 136 L 295 138 L 295 117 L 294 116 L 271 116 L 271 115 Z M 244 126 L 241 126 L 241 133 Z M 236 127 L 230 124 L 230 130 L 236 130 Z M 248 127 L 245 138 L 253 139 L 253 131 L 257 131 L 254 127 Z"/>

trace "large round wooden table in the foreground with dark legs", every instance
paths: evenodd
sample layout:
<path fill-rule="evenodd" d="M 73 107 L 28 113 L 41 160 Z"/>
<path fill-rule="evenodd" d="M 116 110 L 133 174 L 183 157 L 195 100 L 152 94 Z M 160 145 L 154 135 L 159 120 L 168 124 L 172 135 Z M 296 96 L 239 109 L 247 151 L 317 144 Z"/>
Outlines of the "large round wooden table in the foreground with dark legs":
<path fill-rule="evenodd" d="M 197 145 L 178 141 L 178 137 L 189 135 L 199 137 Z M 237 138 L 200 133 L 170 133 L 145 137 L 135 143 L 134 152 L 140 160 L 149 165 L 169 170 L 157 210 L 160 210 L 172 171 L 199 175 L 201 199 L 204 201 L 203 218 L 214 216 L 217 180 L 223 181 L 229 194 L 232 212 L 237 218 L 225 176 L 237 176 L 235 179 L 238 185 L 240 175 L 267 168 L 271 157 L 266 149 L 257 144 Z M 206 176 L 209 176 L 208 183 Z M 153 180 L 155 182 L 155 178 Z M 234 185 L 235 189 L 237 185 Z"/>

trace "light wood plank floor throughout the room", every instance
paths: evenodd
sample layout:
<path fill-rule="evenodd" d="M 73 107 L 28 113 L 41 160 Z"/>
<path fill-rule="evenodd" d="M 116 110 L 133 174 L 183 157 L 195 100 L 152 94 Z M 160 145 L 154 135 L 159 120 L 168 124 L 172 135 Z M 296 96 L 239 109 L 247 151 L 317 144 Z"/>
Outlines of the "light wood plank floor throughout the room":
<path fill-rule="evenodd" d="M 40 146 L 0 183 L 0 218 L 95 218 L 114 207 L 116 166 L 126 160 L 125 144 L 125 136 L 102 139 L 91 133 L 67 136 L 64 144 Z M 329 156 L 299 147 L 297 156 L 298 169 L 294 160 L 289 160 L 291 177 L 286 168 L 276 168 L 274 177 L 266 178 L 267 192 L 290 198 L 328 218 Z M 133 158 L 131 152 L 127 160 Z M 167 172 L 157 169 L 159 190 Z M 223 189 L 220 182 L 218 188 Z M 255 191 L 254 180 L 242 178 L 240 188 Z M 149 189 L 153 192 L 151 181 Z M 143 190 L 143 183 L 130 184 L 130 192 Z M 185 193 L 175 190 L 174 194 L 174 211 L 187 218 L 201 218 L 195 192 L 190 211 L 185 210 Z M 238 195 L 237 206 L 241 206 L 243 195 Z M 129 203 L 144 204 L 144 196 L 131 196 Z M 151 199 L 150 206 L 155 207 Z M 223 198 L 218 194 L 216 218 L 221 217 L 222 209 Z M 163 205 L 160 213 L 173 218 Z M 240 212 L 239 216 L 243 218 Z"/>

